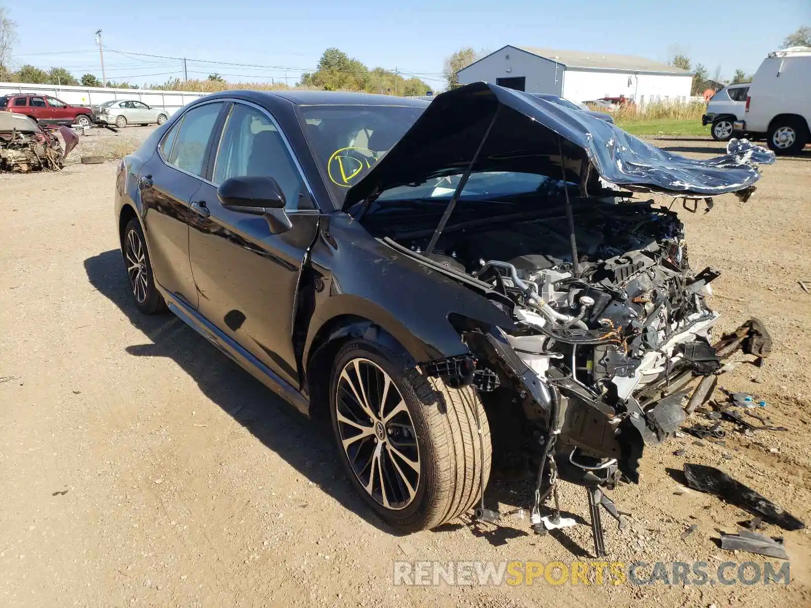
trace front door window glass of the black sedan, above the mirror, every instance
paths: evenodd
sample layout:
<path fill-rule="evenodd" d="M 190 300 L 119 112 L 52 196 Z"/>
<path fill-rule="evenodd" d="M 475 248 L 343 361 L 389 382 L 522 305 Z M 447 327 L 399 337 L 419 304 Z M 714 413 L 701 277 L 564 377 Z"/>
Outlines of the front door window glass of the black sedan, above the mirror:
<path fill-rule="evenodd" d="M 301 172 L 277 126 L 268 115 L 248 105 L 234 104 L 222 131 L 214 183 L 228 178 L 273 178 L 285 195 L 285 209 L 312 209 Z"/>

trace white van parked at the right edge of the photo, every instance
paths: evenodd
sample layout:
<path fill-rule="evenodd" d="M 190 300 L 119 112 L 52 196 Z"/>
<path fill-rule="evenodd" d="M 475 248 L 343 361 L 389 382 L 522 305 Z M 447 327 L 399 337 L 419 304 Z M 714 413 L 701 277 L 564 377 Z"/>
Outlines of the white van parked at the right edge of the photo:
<path fill-rule="evenodd" d="M 811 47 L 766 56 L 749 85 L 735 131 L 765 134 L 775 154 L 797 154 L 811 139 Z"/>

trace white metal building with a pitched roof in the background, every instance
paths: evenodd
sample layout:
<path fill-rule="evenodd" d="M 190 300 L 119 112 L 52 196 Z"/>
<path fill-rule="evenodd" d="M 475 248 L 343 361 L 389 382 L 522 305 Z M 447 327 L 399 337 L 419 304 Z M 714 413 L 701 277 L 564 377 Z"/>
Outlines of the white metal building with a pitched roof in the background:
<path fill-rule="evenodd" d="M 637 104 L 688 101 L 693 74 L 632 55 L 507 45 L 457 72 L 459 83 L 485 81 L 569 101 L 628 97 Z"/>

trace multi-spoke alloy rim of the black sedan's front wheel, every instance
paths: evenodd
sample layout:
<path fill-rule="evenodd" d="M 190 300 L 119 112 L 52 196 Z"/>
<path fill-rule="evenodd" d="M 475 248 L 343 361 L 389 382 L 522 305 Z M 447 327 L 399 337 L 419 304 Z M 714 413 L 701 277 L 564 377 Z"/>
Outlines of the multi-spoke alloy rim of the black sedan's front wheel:
<path fill-rule="evenodd" d="M 400 391 L 380 366 L 363 358 L 344 366 L 336 391 L 341 448 L 358 482 L 387 509 L 408 507 L 417 495 L 420 461 Z"/>

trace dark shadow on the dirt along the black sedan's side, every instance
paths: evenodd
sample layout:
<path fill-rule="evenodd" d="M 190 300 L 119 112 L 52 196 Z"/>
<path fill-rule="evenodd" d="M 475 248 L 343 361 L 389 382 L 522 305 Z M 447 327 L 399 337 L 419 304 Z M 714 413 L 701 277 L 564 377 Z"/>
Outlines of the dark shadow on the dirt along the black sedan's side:
<path fill-rule="evenodd" d="M 139 312 L 132 302 L 120 251 L 105 251 L 88 258 L 84 269 L 93 287 L 152 341 L 127 346 L 127 353 L 173 360 L 205 396 L 343 507 L 385 533 L 401 534 L 385 525 L 354 493 L 336 457 L 327 425 L 307 420 L 174 315 L 147 316 Z"/>

